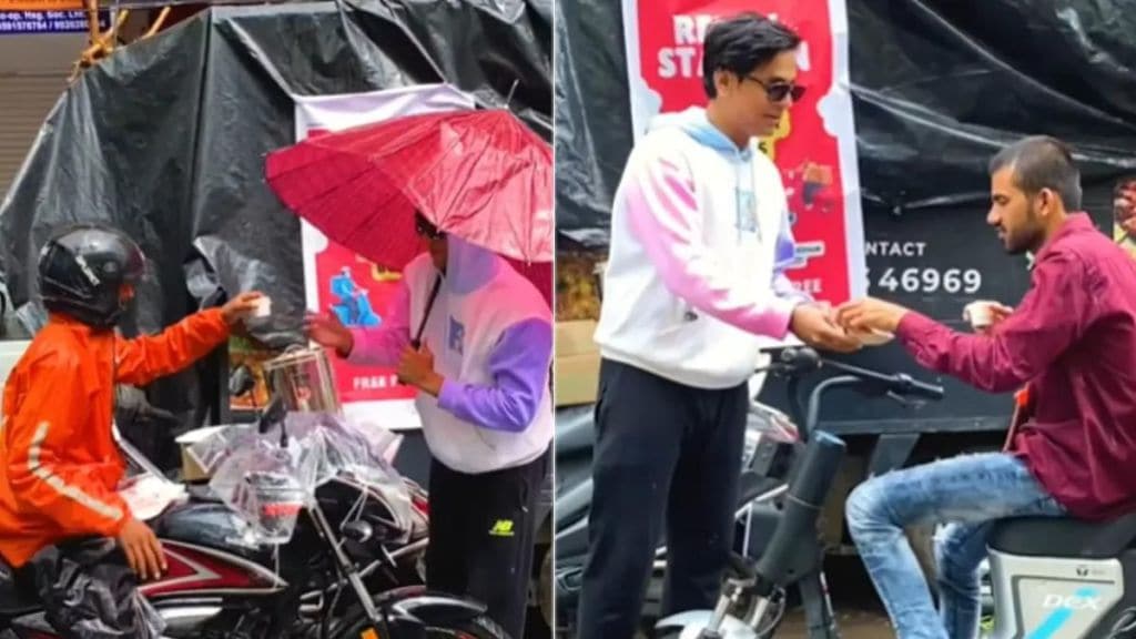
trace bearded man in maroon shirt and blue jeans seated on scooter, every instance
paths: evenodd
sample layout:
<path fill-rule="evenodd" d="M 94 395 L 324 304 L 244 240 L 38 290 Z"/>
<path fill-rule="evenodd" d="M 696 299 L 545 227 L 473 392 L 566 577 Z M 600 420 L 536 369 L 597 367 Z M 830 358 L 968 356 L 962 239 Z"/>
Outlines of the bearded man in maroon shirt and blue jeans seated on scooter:
<path fill-rule="evenodd" d="M 992 522 L 1136 509 L 1136 262 L 1080 209 L 1067 148 L 1028 138 L 991 161 L 986 222 L 1011 255 L 1033 251 L 1033 284 L 986 334 L 963 334 L 876 299 L 844 305 L 847 330 L 894 332 L 921 364 L 989 392 L 1028 384 L 1031 414 L 1004 453 L 966 455 L 868 480 L 846 516 L 900 639 L 978 636 L 977 569 Z M 936 614 L 903 529 L 936 539 Z"/>

